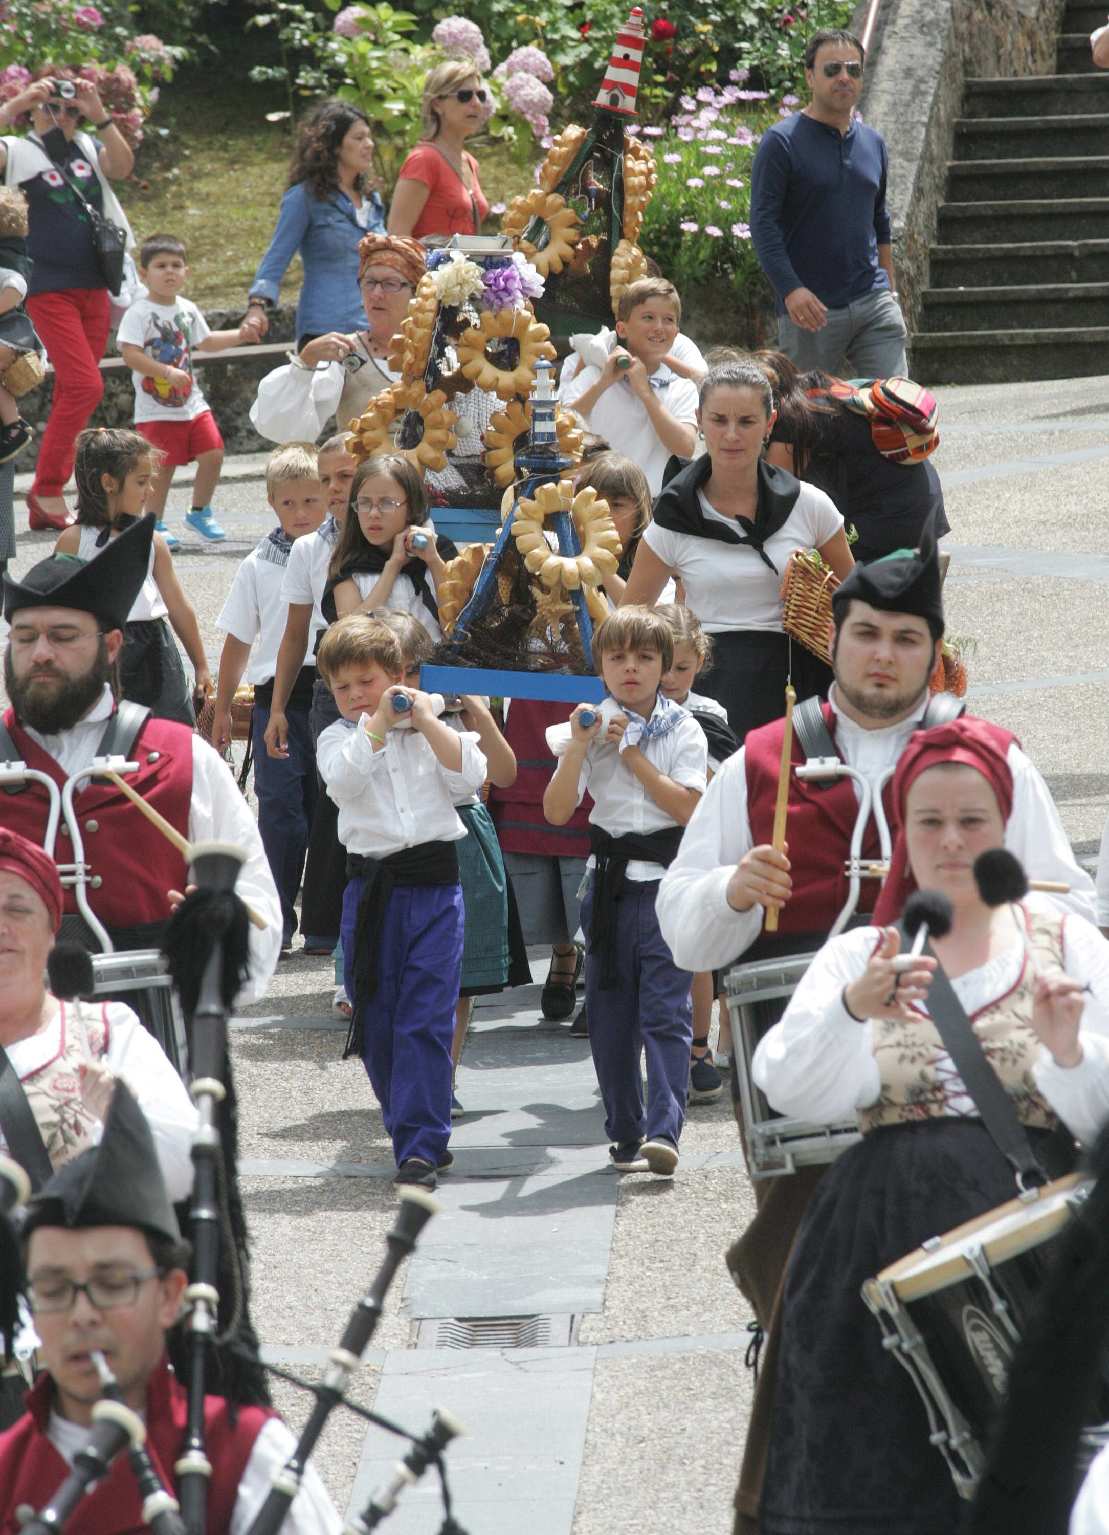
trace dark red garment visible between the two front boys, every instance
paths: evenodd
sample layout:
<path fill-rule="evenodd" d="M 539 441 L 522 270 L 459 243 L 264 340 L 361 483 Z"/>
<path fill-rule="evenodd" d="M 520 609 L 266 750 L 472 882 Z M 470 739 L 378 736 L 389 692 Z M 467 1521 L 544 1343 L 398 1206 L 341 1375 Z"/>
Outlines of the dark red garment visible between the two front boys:
<path fill-rule="evenodd" d="M 497 827 L 502 852 L 538 853 L 543 858 L 589 857 L 589 810 L 581 804 L 564 826 L 551 826 L 543 815 L 543 791 L 558 763 L 546 743 L 548 725 L 564 725 L 574 714 L 572 703 L 546 703 L 540 698 L 512 698 L 505 721 L 505 740 L 515 752 L 515 783 L 489 789 L 489 815 Z"/>

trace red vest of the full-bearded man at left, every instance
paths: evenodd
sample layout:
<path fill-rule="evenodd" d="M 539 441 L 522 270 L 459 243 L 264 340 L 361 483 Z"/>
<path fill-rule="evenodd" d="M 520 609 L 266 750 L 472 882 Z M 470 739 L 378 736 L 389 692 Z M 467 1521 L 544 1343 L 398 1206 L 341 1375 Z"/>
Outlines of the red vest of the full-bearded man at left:
<path fill-rule="evenodd" d="M 38 746 L 8 709 L 3 723 L 28 768 L 49 774 L 58 789 L 64 775 L 55 760 Z M 172 720 L 147 720 L 132 748 L 137 774 L 127 783 L 175 826 L 189 835 L 189 804 L 193 792 L 193 732 Z M 0 789 L 0 826 L 38 843 L 46 837 L 49 804 L 46 789 L 31 783 L 21 794 Z M 184 890 L 187 873 L 181 853 L 110 783 L 86 783 L 74 798 L 74 809 L 84 840 L 84 857 L 100 886 L 89 887 L 89 906 L 104 927 L 133 927 L 169 918 L 167 890 Z M 64 821 L 55 843 L 58 863 L 69 863 Z M 66 913 L 77 912 L 71 886 L 66 887 Z"/>

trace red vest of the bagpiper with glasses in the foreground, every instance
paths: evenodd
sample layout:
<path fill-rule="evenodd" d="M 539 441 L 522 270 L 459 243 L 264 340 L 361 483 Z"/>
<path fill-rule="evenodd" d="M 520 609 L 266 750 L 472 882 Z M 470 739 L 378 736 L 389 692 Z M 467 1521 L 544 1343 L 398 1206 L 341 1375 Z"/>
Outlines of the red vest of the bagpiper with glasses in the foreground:
<path fill-rule="evenodd" d="M 41 1375 L 26 1394 L 28 1411 L 0 1434 L 0 1535 L 18 1535 L 15 1509 L 40 1509 L 69 1475 L 69 1466 L 46 1438 L 54 1383 Z M 146 1448 L 163 1484 L 176 1492 L 173 1463 L 186 1431 L 187 1397 L 163 1354 L 146 1395 Z M 204 1398 L 204 1448 L 212 1461 L 209 1481 L 209 1535 L 227 1535 L 239 1481 L 250 1451 L 267 1418 L 267 1408 L 239 1408 L 236 1421 L 222 1397 Z M 149 1535 L 143 1504 L 126 1455 L 77 1504 L 66 1535 Z"/>

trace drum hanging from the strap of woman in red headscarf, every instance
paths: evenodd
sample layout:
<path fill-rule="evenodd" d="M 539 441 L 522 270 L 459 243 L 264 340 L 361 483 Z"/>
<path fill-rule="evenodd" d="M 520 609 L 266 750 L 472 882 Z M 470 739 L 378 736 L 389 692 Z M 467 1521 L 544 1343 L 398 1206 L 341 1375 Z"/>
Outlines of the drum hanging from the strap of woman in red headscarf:
<path fill-rule="evenodd" d="M 862 1286 L 885 1346 L 923 1398 L 933 1444 L 971 1498 L 986 1464 L 986 1434 L 1005 1400 L 1009 1365 L 1052 1262 L 1052 1248 L 1092 1183 L 1077 1173 L 933 1237 Z M 1083 1432 L 1080 1464 L 1106 1443 L 1104 1386 Z"/>

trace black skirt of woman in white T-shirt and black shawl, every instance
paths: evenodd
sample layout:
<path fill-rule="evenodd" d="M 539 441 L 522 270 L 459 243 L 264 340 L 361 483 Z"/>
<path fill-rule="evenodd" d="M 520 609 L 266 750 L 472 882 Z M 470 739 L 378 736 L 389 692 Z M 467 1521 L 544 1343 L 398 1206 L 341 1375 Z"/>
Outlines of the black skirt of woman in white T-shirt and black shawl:
<path fill-rule="evenodd" d="M 831 666 L 818 660 L 788 634 L 767 629 L 729 629 L 713 634 L 713 663 L 707 677 L 698 677 L 699 692 L 722 703 L 727 721 L 742 746 L 747 731 L 770 725 L 785 714 L 785 683 L 793 672 L 798 703 L 827 698 Z M 790 651 L 793 654 L 790 654 Z"/>

